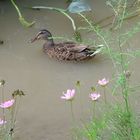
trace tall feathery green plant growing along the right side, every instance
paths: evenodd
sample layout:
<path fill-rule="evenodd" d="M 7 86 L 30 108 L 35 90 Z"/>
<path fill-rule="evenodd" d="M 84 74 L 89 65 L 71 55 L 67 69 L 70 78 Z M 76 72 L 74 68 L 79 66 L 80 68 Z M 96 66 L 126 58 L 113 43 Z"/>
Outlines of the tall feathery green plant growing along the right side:
<path fill-rule="evenodd" d="M 129 39 L 140 32 L 140 22 L 133 23 L 133 26 L 129 29 L 125 28 L 126 19 L 132 18 L 136 13 L 139 14 L 139 6 L 134 8 L 134 6 L 136 6 L 135 3 L 138 4 L 139 1 L 136 0 L 131 3 L 127 0 L 107 1 L 107 5 L 112 8 L 114 12 L 112 22 L 109 24 L 110 30 L 104 29 L 103 26 L 99 26 L 99 24 L 91 21 L 89 17 L 79 13 L 79 16 L 87 23 L 86 27 L 80 27 L 79 29 L 84 29 L 97 35 L 97 41 L 105 46 L 104 54 L 110 58 L 114 71 L 110 81 L 105 78 L 98 80 L 98 84 L 103 88 L 106 105 L 100 105 L 102 112 L 98 118 L 90 117 L 92 119 L 90 119 L 89 123 L 81 122 L 83 129 L 80 128 L 80 135 L 77 134 L 79 137 L 76 137 L 76 140 L 140 139 L 140 114 L 134 111 L 129 101 L 129 98 L 134 96 L 136 87 L 139 87 L 139 85 L 135 86 L 132 90 L 133 86 L 131 85 L 132 83 L 130 83 L 132 73 L 129 66 L 131 62 L 140 55 L 140 50 L 135 50 L 128 46 Z M 131 7 L 133 7 L 134 10 L 131 11 Z M 111 87 L 107 86 L 109 82 Z M 99 87 L 93 86 L 92 90 L 96 92 L 97 88 Z M 112 101 L 113 104 L 107 101 L 106 89 L 109 89 L 108 94 L 114 99 Z M 131 95 L 131 93 L 133 93 L 133 95 Z M 102 95 L 102 92 L 100 92 L 100 94 Z M 117 100 L 118 96 L 120 97 L 119 100 Z"/>

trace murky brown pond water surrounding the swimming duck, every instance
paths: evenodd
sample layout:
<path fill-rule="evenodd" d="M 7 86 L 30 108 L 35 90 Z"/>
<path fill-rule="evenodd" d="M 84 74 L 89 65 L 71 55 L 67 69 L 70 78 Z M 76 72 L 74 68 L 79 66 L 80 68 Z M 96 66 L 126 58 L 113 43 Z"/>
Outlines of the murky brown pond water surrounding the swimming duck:
<path fill-rule="evenodd" d="M 94 11 L 91 16 L 96 21 L 111 14 L 105 1 L 91 2 Z M 18 114 L 16 139 L 71 140 L 70 107 L 60 99 L 62 92 L 74 88 L 76 81 L 80 80 L 81 95 L 75 99 L 74 113 L 78 121 L 80 118 L 89 118 L 90 87 L 96 84 L 98 79 L 111 78 L 113 66 L 109 58 L 101 54 L 81 63 L 59 62 L 49 59 L 42 52 L 42 41 L 29 43 L 40 29 L 45 28 L 54 36 L 72 37 L 71 23 L 63 15 L 25 8 L 36 5 L 66 8 L 64 0 L 19 0 L 18 5 L 28 21 L 36 21 L 33 27 L 22 27 L 10 1 L 0 1 L 0 40 L 4 41 L 4 44 L 0 45 L 0 78 L 6 80 L 6 94 L 16 89 L 21 89 L 26 94 Z M 76 23 L 79 26 L 82 24 L 80 19 L 76 19 Z M 89 37 L 84 33 L 83 36 Z M 137 40 L 132 42 L 137 48 L 139 38 L 136 38 Z M 139 60 L 132 66 L 132 70 L 135 68 L 135 75 L 139 73 L 137 64 Z M 139 79 L 139 75 L 133 77 L 135 83 L 140 82 Z"/>

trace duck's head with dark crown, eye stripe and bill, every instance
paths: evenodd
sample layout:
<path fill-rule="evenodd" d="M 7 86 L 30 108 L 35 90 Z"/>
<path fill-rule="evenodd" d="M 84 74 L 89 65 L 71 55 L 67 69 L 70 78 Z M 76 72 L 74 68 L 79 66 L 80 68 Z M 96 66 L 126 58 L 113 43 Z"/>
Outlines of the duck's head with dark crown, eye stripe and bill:
<path fill-rule="evenodd" d="M 52 39 L 52 34 L 50 33 L 50 31 L 43 29 L 40 30 L 37 35 L 35 36 L 35 38 L 31 39 L 31 43 L 33 43 L 36 40 L 47 40 L 47 41 L 53 41 Z"/>

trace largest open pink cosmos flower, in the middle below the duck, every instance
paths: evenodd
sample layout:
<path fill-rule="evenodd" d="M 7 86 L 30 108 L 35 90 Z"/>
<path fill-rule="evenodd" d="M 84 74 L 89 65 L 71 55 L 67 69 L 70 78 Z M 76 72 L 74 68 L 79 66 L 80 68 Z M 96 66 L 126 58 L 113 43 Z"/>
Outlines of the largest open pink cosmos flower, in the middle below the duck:
<path fill-rule="evenodd" d="M 73 100 L 75 95 L 75 89 L 68 89 L 66 93 L 63 92 L 63 96 L 61 96 L 61 99 L 64 100 Z"/>

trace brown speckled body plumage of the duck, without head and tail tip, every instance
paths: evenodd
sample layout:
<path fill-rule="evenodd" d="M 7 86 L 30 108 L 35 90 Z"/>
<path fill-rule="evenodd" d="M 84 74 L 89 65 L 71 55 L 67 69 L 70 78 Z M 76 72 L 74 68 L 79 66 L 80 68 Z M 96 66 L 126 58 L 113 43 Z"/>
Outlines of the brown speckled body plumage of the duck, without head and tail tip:
<path fill-rule="evenodd" d="M 88 46 L 77 45 L 73 42 L 64 42 L 55 44 L 54 46 L 48 46 L 44 44 L 44 52 L 49 55 L 51 58 L 56 58 L 58 60 L 75 60 L 81 61 L 84 59 L 89 59 L 90 53 Z M 93 56 L 92 56 L 93 57 Z"/>

